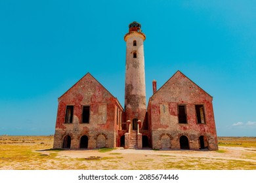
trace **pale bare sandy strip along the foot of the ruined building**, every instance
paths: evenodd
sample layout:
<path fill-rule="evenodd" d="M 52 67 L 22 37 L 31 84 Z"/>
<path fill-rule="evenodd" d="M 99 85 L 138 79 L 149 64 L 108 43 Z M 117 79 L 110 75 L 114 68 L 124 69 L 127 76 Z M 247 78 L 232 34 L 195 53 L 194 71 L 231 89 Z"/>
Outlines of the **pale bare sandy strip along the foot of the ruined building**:
<path fill-rule="evenodd" d="M 125 159 L 139 160 L 142 157 L 150 156 L 174 156 L 176 159 L 184 158 L 211 158 L 211 159 L 230 159 L 230 160 L 242 160 L 249 162 L 256 162 L 256 159 L 242 158 L 243 154 L 254 153 L 256 155 L 255 148 L 242 148 L 242 147 L 228 147 L 224 146 L 219 148 L 225 150 L 228 153 L 218 153 L 215 151 L 193 151 L 193 150 L 134 150 L 118 148 L 111 152 L 101 153 L 97 150 L 64 150 L 58 153 L 60 158 L 89 158 L 91 156 L 108 157 L 110 155 L 120 155 Z"/>

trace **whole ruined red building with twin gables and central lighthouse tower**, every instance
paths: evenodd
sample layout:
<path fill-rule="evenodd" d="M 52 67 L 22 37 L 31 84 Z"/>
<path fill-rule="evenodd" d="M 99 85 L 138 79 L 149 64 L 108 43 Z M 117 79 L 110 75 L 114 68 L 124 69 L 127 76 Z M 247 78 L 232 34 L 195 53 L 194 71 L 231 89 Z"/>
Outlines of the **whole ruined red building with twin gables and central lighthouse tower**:
<path fill-rule="evenodd" d="M 87 73 L 58 98 L 54 148 L 153 148 L 217 150 L 213 97 L 177 71 L 146 107 L 144 41 L 140 24 L 129 24 L 125 106 Z"/>

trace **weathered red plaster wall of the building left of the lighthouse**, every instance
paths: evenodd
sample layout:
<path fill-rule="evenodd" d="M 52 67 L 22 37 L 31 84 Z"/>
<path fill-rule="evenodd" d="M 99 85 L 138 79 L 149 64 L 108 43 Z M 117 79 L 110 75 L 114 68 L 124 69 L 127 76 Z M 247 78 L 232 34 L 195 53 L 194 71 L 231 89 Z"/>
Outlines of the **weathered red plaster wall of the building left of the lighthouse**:
<path fill-rule="evenodd" d="M 65 123 L 66 106 L 74 105 L 72 124 Z M 90 106 L 89 124 L 82 124 L 83 105 Z M 118 109 L 118 110 L 117 110 Z M 79 148 L 83 135 L 89 138 L 88 148 L 116 147 L 117 112 L 123 112 L 117 99 L 89 73 L 58 99 L 54 148 L 62 148 L 63 139 L 70 135 L 71 148 Z"/>

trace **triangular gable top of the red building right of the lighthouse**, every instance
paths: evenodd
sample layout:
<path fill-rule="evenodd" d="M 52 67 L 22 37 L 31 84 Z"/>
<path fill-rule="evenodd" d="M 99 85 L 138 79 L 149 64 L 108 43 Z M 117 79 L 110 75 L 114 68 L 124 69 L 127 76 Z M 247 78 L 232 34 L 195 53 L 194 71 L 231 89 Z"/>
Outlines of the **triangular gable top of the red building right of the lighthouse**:
<path fill-rule="evenodd" d="M 161 88 L 150 97 L 161 102 L 200 103 L 203 100 L 212 100 L 213 97 L 195 84 L 181 71 L 177 71 Z"/>

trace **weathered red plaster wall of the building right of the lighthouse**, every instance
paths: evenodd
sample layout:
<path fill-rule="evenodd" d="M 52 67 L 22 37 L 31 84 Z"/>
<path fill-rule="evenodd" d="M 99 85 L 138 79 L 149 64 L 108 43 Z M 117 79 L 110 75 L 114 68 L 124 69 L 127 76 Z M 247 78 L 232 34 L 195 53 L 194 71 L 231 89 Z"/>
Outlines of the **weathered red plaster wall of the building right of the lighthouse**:
<path fill-rule="evenodd" d="M 186 105 L 187 124 L 179 124 L 177 105 Z M 205 124 L 198 124 L 195 105 L 203 105 Z M 149 120 L 152 124 L 152 148 L 179 149 L 179 138 L 188 137 L 190 149 L 199 150 L 199 137 L 207 137 L 209 149 L 217 150 L 217 134 L 212 97 L 181 72 L 175 73 L 150 98 Z M 168 139 L 169 137 L 169 139 Z"/>

